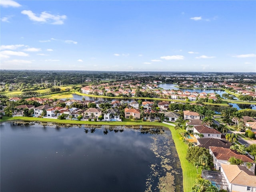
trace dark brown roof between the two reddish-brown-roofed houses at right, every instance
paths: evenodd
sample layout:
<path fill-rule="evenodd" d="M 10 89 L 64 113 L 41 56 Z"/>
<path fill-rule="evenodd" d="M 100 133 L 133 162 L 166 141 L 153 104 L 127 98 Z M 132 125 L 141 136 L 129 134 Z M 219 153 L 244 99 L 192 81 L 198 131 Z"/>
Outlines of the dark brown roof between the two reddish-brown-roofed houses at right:
<path fill-rule="evenodd" d="M 216 138 L 198 138 L 197 141 L 199 143 L 198 147 L 204 147 L 206 149 L 209 149 L 211 146 L 229 149 L 232 146 L 230 142 Z"/>

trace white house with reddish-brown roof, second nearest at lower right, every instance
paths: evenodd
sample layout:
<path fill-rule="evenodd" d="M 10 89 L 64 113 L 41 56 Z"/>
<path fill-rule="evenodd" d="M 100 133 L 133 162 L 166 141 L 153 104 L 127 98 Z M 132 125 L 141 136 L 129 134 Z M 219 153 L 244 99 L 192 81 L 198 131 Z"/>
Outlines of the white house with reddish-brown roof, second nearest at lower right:
<path fill-rule="evenodd" d="M 213 164 L 214 168 L 216 170 L 221 169 L 221 164 L 230 164 L 228 160 L 231 157 L 235 157 L 237 159 L 240 159 L 244 162 L 244 166 L 246 167 L 246 163 L 250 162 L 252 163 L 252 167 L 249 169 L 252 172 L 255 172 L 255 162 L 250 156 L 248 155 L 242 155 L 236 152 L 236 150 L 227 149 L 223 147 L 209 147 L 210 148 L 210 154 L 213 158 Z"/>

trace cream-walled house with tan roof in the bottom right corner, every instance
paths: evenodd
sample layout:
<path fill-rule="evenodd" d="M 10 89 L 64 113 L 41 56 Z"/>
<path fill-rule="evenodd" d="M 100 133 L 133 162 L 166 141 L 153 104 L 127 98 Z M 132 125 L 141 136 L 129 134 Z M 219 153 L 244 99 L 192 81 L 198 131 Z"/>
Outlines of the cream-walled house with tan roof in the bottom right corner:
<path fill-rule="evenodd" d="M 221 170 L 231 192 L 256 192 L 256 176 L 245 166 L 221 164 Z"/>

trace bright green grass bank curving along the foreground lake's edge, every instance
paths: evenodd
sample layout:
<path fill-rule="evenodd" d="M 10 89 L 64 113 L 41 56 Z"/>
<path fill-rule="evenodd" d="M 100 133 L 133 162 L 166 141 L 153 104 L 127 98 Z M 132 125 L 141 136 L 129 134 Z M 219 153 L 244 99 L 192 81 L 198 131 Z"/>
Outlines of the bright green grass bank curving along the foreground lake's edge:
<path fill-rule="evenodd" d="M 172 132 L 172 138 L 174 140 L 178 156 L 180 158 L 180 163 L 183 172 L 183 188 L 184 192 L 189 192 L 196 180 L 196 168 L 186 160 L 186 150 L 188 146 L 180 139 L 179 131 L 174 130 L 173 126 L 166 125 L 160 122 L 143 122 L 142 120 L 125 120 L 124 122 L 89 122 L 89 121 L 75 121 L 75 120 L 58 120 L 58 119 L 48 119 L 48 118 L 35 118 L 35 117 L 6 117 L 4 116 L 0 122 L 13 121 L 13 120 L 23 120 L 23 121 L 40 121 L 40 122 L 55 122 L 59 124 L 95 124 L 95 125 L 150 125 L 150 126 L 165 126 Z M 198 170 L 200 172 L 200 170 Z"/>

